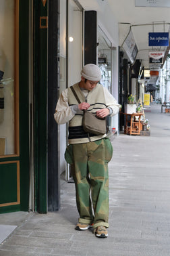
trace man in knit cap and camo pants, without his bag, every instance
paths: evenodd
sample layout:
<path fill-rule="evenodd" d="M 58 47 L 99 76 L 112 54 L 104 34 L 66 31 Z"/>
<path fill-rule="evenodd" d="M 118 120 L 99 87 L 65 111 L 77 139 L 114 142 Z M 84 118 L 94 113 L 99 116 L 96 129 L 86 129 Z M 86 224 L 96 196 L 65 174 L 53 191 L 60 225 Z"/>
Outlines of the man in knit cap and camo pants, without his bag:
<path fill-rule="evenodd" d="M 98 238 L 106 238 L 109 228 L 108 163 L 113 147 L 106 133 L 86 133 L 82 118 L 83 110 L 95 112 L 100 119 L 113 116 L 119 112 L 120 105 L 105 87 L 98 84 L 101 80 L 98 66 L 87 64 L 81 74 L 81 81 L 73 87 L 82 103 L 78 104 L 69 87 L 61 93 L 54 116 L 58 124 L 69 122 L 69 146 L 65 160 L 74 166 L 72 174 L 80 214 L 76 230 L 87 230 L 92 226 Z"/>

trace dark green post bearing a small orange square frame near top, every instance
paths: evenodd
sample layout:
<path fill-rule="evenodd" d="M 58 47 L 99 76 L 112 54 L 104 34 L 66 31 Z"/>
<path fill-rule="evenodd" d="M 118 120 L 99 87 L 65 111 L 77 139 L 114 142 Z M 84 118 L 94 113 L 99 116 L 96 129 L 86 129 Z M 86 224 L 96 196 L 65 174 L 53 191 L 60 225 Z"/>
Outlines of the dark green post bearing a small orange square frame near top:
<path fill-rule="evenodd" d="M 47 2 L 34 4 L 34 185 L 35 210 L 47 213 Z"/>

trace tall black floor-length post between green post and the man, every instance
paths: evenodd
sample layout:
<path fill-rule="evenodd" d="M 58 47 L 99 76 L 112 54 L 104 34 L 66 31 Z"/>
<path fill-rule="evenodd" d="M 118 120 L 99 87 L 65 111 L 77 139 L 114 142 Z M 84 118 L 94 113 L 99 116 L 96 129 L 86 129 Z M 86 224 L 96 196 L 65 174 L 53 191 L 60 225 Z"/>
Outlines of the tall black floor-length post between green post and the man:
<path fill-rule="evenodd" d="M 48 46 L 48 211 L 60 207 L 58 126 L 54 119 L 59 86 L 59 0 L 49 1 Z"/>

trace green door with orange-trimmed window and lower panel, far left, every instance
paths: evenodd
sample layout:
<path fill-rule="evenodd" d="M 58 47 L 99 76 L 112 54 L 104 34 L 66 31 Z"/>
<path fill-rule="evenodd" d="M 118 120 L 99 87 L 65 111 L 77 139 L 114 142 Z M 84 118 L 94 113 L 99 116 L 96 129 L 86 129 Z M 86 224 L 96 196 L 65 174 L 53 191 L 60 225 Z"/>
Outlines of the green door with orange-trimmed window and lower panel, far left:
<path fill-rule="evenodd" d="M 0 14 L 0 213 L 5 213 L 28 211 L 28 0 L 1 0 Z"/>

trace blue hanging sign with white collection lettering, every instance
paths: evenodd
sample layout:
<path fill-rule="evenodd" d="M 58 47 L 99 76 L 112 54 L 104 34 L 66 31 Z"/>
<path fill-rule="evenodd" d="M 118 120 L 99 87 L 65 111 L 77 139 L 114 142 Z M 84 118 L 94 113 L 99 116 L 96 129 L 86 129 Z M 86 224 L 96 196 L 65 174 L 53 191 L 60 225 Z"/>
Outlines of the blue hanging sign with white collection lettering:
<path fill-rule="evenodd" d="M 149 46 L 169 46 L 169 33 L 148 33 Z"/>

